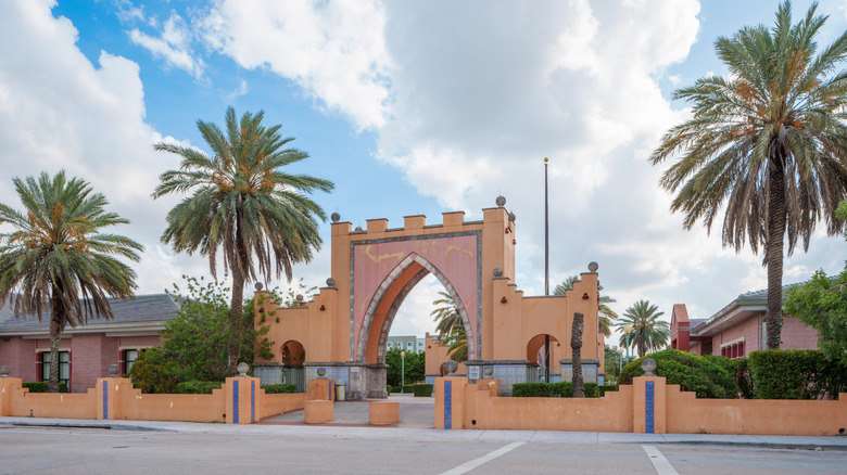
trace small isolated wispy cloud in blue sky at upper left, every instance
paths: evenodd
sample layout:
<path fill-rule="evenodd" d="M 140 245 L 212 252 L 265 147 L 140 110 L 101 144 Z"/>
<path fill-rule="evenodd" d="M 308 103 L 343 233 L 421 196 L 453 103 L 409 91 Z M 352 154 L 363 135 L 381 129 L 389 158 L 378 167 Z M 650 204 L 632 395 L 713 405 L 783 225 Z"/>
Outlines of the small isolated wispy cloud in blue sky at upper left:
<path fill-rule="evenodd" d="M 176 12 L 172 12 L 165 21 L 159 38 L 138 28 L 131 29 L 128 35 L 134 43 L 150 51 L 154 57 L 162 59 L 168 67 L 184 69 L 195 79 L 203 76 L 205 64 L 191 49 L 191 29 Z"/>

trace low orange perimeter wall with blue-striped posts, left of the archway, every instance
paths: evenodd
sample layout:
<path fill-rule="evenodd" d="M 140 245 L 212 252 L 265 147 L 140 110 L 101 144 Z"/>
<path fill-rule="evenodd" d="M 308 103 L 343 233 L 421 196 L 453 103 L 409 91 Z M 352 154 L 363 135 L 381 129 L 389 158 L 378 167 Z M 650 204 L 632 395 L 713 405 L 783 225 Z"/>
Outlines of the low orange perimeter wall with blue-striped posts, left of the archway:
<path fill-rule="evenodd" d="M 105 377 L 86 394 L 29 393 L 17 377 L 0 378 L 0 415 L 18 418 L 131 421 L 226 422 L 251 424 L 302 409 L 307 399 L 326 399 L 326 387 L 306 394 L 265 394 L 257 377 L 228 377 L 211 395 L 141 394 L 124 377 Z"/>

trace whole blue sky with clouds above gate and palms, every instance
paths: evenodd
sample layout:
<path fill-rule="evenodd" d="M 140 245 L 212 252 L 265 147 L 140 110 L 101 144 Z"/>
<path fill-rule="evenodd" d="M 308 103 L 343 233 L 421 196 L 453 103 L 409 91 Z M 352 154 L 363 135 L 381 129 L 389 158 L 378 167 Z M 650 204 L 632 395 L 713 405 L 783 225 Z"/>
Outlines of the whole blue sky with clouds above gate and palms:
<path fill-rule="evenodd" d="M 847 0 L 819 42 L 847 29 Z M 810 2 L 795 1 L 795 18 Z M 690 115 L 675 88 L 726 75 L 713 41 L 772 24 L 775 0 L 569 1 L 52 1 L 0 2 L 0 203 L 22 208 L 13 177 L 88 180 L 144 245 L 138 294 L 207 275 L 200 255 L 161 244 L 181 196 L 153 201 L 178 157 L 168 141 L 208 151 L 197 120 L 265 112 L 309 158 L 291 171 L 334 182 L 312 197 L 353 226 L 464 210 L 480 219 L 497 195 L 517 216 L 524 295 L 544 293 L 544 166 L 549 157 L 551 287 L 599 265 L 619 313 L 647 299 L 708 318 L 767 287 L 761 254 L 682 228 L 658 187 L 671 163 L 647 162 Z M 329 223 L 307 286 L 330 272 Z M 784 283 L 844 268 L 847 244 L 818 227 L 808 253 L 786 258 Z M 285 281 L 267 282 L 287 287 Z M 252 288 L 252 285 L 248 285 Z M 406 298 L 391 333 L 433 331 L 441 284 Z"/>

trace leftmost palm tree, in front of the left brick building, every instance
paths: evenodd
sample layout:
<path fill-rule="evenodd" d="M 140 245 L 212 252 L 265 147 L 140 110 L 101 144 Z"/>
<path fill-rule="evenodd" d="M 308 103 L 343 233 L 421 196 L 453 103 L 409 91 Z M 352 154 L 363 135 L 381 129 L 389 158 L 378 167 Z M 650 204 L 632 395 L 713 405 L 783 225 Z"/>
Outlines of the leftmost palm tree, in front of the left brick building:
<path fill-rule="evenodd" d="M 129 221 L 103 208 L 109 204 L 84 180 L 67 181 L 64 170 L 50 178 L 12 180 L 24 211 L 0 204 L 0 303 L 11 301 L 15 316 L 50 309 L 50 381 L 59 390 L 59 341 L 67 325 L 89 317 L 112 318 L 106 295 L 130 298 L 136 273 L 112 256 L 139 260 L 142 247 L 102 228 Z"/>

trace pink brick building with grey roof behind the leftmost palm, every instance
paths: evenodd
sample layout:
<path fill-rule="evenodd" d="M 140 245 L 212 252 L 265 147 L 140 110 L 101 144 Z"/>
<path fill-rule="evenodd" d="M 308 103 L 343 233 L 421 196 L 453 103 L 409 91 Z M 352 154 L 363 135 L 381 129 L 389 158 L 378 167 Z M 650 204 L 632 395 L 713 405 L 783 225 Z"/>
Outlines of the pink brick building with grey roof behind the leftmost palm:
<path fill-rule="evenodd" d="M 110 364 L 123 374 L 139 351 L 155 346 L 165 322 L 176 317 L 179 305 L 167 294 L 142 295 L 131 300 L 110 299 L 114 319 L 92 319 L 67 328 L 59 344 L 59 377 L 72 393 L 85 393 L 98 377 L 109 375 Z M 27 381 L 50 378 L 50 317 L 15 318 L 11 308 L 0 308 L 0 364 L 10 376 Z"/>

